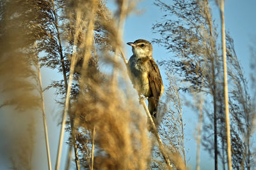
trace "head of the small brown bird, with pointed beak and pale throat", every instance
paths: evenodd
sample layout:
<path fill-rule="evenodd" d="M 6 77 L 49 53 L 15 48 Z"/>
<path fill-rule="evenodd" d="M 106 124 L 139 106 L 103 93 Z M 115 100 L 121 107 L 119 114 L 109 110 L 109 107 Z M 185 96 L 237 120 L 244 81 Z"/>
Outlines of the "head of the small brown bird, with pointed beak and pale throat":
<path fill-rule="evenodd" d="M 152 57 L 153 47 L 150 42 L 145 39 L 137 39 L 133 43 L 127 43 L 132 46 L 132 53 L 138 58 Z"/>

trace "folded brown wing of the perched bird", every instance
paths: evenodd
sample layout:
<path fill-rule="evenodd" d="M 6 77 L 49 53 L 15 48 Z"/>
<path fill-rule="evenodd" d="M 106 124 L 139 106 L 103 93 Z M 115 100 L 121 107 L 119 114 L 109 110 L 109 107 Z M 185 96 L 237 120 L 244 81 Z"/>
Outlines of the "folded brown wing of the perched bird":
<path fill-rule="evenodd" d="M 148 80 L 152 95 L 156 99 L 157 103 L 161 96 L 163 89 L 163 80 L 159 71 L 159 68 L 154 59 L 148 60 Z"/>

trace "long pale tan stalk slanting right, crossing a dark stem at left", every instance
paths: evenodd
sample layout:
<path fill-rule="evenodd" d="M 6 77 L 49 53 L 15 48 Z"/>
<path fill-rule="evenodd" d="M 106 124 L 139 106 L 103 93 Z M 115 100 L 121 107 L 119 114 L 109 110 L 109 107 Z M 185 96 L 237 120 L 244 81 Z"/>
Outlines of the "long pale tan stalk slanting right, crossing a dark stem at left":
<path fill-rule="evenodd" d="M 68 78 L 68 89 L 67 89 L 67 96 L 66 96 L 66 101 L 65 101 L 65 109 L 64 109 L 64 113 L 63 113 L 63 117 L 62 117 L 60 140 L 59 140 L 59 145 L 58 145 L 59 146 L 58 147 L 58 155 L 57 155 L 56 168 L 55 168 L 56 170 L 60 169 L 60 159 L 61 159 L 61 152 L 62 152 L 62 145 L 63 145 L 63 136 L 64 136 L 65 124 L 66 124 L 66 120 L 67 120 L 67 113 L 68 113 L 68 109 L 70 107 L 70 92 L 71 92 L 72 81 L 73 81 L 73 76 L 74 76 L 74 69 L 75 69 L 76 61 L 77 61 L 76 45 L 77 45 L 77 34 L 79 32 L 80 22 L 81 22 L 81 11 L 77 11 L 76 34 L 74 36 L 74 50 L 72 53 L 70 74 L 69 74 L 69 78 Z M 73 127 L 73 129 L 74 129 L 74 127 Z M 72 134 L 72 136 L 73 136 L 73 134 Z M 76 143 L 76 141 L 74 141 L 74 143 Z M 77 154 L 77 152 L 75 154 Z M 77 169 L 80 169 L 79 160 L 77 160 L 77 158 L 78 158 L 78 156 L 76 155 L 76 167 L 77 167 Z"/>

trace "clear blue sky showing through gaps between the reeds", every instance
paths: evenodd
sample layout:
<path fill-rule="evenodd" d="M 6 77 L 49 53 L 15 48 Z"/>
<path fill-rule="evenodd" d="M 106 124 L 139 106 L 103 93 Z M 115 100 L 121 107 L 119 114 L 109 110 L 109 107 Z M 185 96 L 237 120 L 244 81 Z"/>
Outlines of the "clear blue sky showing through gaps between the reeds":
<path fill-rule="evenodd" d="M 109 1 L 111 2 L 111 1 Z M 112 1 L 113 3 L 113 1 Z M 135 41 L 136 39 L 147 39 L 148 41 L 152 41 L 156 34 L 152 33 L 152 25 L 159 21 L 163 15 L 157 6 L 154 6 L 154 0 L 145 0 L 138 3 L 138 9 L 143 10 L 141 15 L 130 15 L 125 21 L 124 27 L 124 46 L 126 48 L 127 59 L 132 55 L 131 46 L 126 45 L 125 43 Z M 214 4 L 214 3 L 211 3 Z M 111 6 L 111 3 L 108 4 Z M 225 2 L 225 24 L 227 31 L 230 32 L 232 38 L 234 38 L 234 44 L 236 48 L 236 53 L 241 61 L 241 64 L 244 68 L 244 73 L 248 75 L 250 73 L 250 52 L 249 45 L 252 44 L 252 38 L 256 37 L 256 1 L 255 0 L 227 0 Z M 111 6 L 113 8 L 113 6 Z M 214 15 L 218 16 L 218 8 L 216 6 L 212 6 L 212 10 L 214 11 Z M 217 21 L 218 18 L 216 18 Z M 220 25 L 220 24 L 218 24 Z M 154 58 L 156 60 L 164 60 L 170 57 L 173 57 L 173 53 L 168 53 L 164 50 L 163 47 L 158 45 L 153 45 L 154 47 Z M 164 68 L 160 67 L 161 74 L 164 75 Z M 163 76 L 165 77 L 165 76 Z M 51 80 L 59 80 L 60 74 L 52 73 L 52 71 L 48 69 L 42 70 L 42 81 L 44 83 L 44 87 L 51 83 Z M 166 86 L 167 81 L 164 80 L 164 86 Z M 52 167 L 54 167 L 54 162 L 56 161 L 56 152 L 58 147 L 58 136 L 60 132 L 60 125 L 57 125 L 58 122 L 61 121 L 61 118 L 57 115 L 60 113 L 60 107 L 54 101 L 54 90 L 49 90 L 45 92 L 45 101 L 47 101 L 46 107 L 46 117 L 49 128 L 49 140 L 50 140 L 50 148 L 51 148 L 51 160 Z M 1 102 L 1 99 L 0 99 Z M 1 137 L 4 138 L 3 134 L 7 134 L 7 132 L 2 132 L 1 129 L 6 127 L 6 125 L 13 124 L 13 120 L 8 118 L 8 115 L 4 115 L 4 109 L 0 109 L 0 134 Z M 37 160 L 38 167 L 42 167 L 42 169 L 47 169 L 47 160 L 46 160 L 46 152 L 45 152 L 45 143 L 44 143 L 44 131 L 41 115 L 38 114 L 36 116 L 36 122 L 38 123 L 38 127 L 42 127 L 42 131 L 38 131 L 38 138 L 36 139 L 36 157 L 34 160 Z M 184 121 L 186 123 L 185 127 L 185 137 L 186 137 L 186 157 L 189 160 L 188 164 L 191 169 L 195 169 L 195 156 L 196 156 L 196 145 L 195 145 L 195 125 L 197 122 L 197 117 L 195 114 L 191 113 L 188 110 L 184 110 Z M 3 123 L 4 122 L 4 123 Z M 15 127 L 13 125 L 13 127 Z M 10 131 L 15 131 L 14 128 L 10 129 Z M 67 134 L 66 134 L 67 137 Z M 8 136 L 7 136 L 8 138 Z M 0 146 L 0 169 L 6 169 L 6 162 L 10 161 L 9 157 L 4 157 L 4 148 L 8 146 L 8 141 L 4 141 Z M 63 157 L 61 162 L 65 162 L 65 156 L 67 150 L 67 145 L 64 145 Z M 42 155 L 45 155 L 43 157 Z M 39 159 L 38 159 L 39 158 Z M 209 157 L 209 154 L 205 152 L 202 148 L 201 157 L 200 157 L 201 169 L 214 169 L 213 159 Z M 9 167 L 9 166 L 8 166 Z M 8 168 L 7 167 L 7 168 Z M 63 169 L 63 167 L 61 167 Z"/>

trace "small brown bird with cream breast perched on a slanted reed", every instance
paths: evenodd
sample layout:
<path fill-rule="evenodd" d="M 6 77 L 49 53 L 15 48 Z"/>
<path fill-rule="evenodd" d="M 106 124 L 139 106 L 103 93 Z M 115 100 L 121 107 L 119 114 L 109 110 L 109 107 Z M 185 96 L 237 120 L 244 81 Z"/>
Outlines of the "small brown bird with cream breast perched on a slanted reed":
<path fill-rule="evenodd" d="M 153 59 L 153 47 L 145 39 L 138 39 L 132 46 L 133 55 L 127 67 L 134 89 L 148 99 L 148 110 L 156 118 L 159 99 L 164 92 L 163 80 L 159 68 Z"/>

